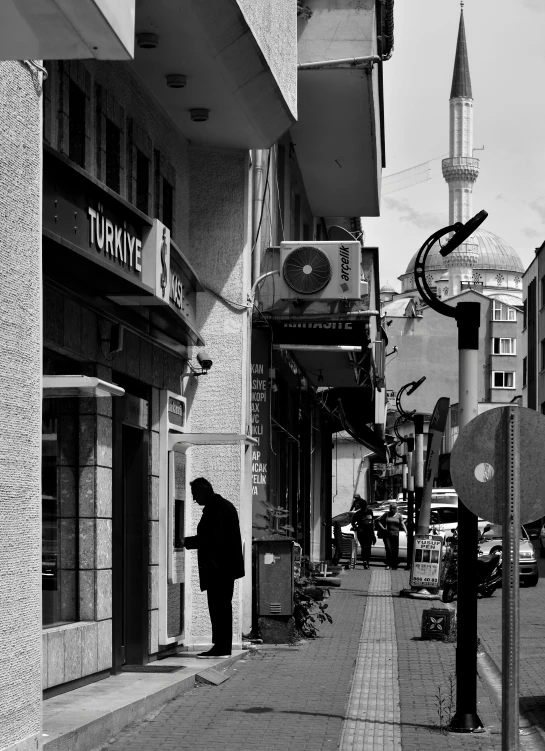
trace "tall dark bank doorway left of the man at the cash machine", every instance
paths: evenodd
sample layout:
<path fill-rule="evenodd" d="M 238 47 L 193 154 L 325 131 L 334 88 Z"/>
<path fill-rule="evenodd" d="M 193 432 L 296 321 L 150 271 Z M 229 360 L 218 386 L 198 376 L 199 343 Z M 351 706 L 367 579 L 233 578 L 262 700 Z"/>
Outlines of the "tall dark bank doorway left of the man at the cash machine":
<path fill-rule="evenodd" d="M 114 401 L 113 669 L 148 662 L 148 401 Z"/>

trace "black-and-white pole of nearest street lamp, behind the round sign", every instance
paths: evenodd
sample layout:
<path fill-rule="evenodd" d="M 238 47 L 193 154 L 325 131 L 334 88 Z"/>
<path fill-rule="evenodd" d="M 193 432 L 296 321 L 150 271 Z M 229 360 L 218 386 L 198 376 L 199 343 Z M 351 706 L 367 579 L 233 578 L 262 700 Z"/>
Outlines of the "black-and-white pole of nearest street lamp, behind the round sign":
<path fill-rule="evenodd" d="M 479 377 L 478 302 L 456 306 L 459 350 L 460 431 L 477 416 Z M 477 714 L 477 517 L 458 503 L 458 641 L 456 645 L 456 713 L 450 729 L 470 733 L 482 722 Z"/>

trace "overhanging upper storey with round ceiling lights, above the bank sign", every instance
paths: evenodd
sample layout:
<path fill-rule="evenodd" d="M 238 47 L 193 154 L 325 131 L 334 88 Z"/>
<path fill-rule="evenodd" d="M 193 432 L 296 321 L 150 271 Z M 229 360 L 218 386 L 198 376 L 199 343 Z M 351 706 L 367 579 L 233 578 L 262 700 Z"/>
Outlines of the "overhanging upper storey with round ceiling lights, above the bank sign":
<path fill-rule="evenodd" d="M 290 94 L 296 86 L 296 5 L 292 10 L 272 6 L 286 29 L 293 28 L 291 48 L 289 37 L 282 39 L 282 57 L 270 39 L 254 33 L 244 5 L 237 0 L 138 3 L 137 35 L 156 34 L 158 45 L 137 47 L 131 68 L 191 143 L 266 148 L 295 121 L 296 100 Z M 186 76 L 185 87 L 167 86 L 166 76 L 176 73 Z M 206 122 L 191 120 L 190 110 L 198 108 L 209 110 Z"/>

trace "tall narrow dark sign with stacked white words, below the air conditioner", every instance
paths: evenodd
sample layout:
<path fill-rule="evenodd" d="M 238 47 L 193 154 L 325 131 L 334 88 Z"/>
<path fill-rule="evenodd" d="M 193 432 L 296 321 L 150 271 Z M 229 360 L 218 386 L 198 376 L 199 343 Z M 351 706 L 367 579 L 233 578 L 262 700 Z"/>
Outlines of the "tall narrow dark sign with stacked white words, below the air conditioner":
<path fill-rule="evenodd" d="M 252 331 L 252 436 L 257 444 L 252 446 L 252 508 L 253 537 L 262 537 L 263 515 L 269 500 L 269 449 L 270 449 L 270 343 L 268 333 Z"/>

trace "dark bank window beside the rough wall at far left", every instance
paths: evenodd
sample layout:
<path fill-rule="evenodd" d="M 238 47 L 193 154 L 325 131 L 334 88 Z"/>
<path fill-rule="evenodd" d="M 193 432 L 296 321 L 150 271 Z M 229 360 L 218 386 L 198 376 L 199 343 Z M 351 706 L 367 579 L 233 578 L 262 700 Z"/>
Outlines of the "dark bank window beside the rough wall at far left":
<path fill-rule="evenodd" d="M 77 411 L 75 400 L 42 409 L 42 622 L 78 620 Z"/>

